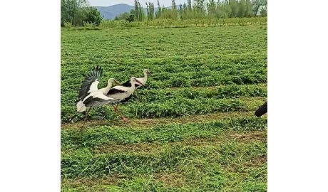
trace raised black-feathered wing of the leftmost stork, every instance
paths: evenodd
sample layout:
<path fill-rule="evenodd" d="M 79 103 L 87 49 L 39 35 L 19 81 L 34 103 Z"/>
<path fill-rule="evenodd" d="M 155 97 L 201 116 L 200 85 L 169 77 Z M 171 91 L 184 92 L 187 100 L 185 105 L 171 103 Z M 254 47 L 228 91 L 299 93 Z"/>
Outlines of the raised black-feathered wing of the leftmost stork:
<path fill-rule="evenodd" d="M 86 75 L 86 78 L 84 78 L 81 86 L 81 90 L 78 94 L 78 98 L 80 100 L 84 100 L 86 96 L 88 96 L 88 91 L 90 90 L 90 86 L 93 82 L 95 82 L 97 79 L 99 81 L 99 78 L 103 74 L 103 69 L 100 66 L 97 66 L 95 69 L 91 70 L 88 75 Z"/>

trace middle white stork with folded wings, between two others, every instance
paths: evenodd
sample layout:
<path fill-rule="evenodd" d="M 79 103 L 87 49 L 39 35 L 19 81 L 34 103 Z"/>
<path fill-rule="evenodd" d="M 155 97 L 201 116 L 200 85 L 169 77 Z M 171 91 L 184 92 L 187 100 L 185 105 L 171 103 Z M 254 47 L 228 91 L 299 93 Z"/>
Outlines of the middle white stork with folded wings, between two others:
<path fill-rule="evenodd" d="M 135 84 L 137 82 L 140 83 L 141 86 L 143 85 L 143 83 L 140 82 L 137 78 L 132 77 L 130 78 L 130 87 L 115 86 L 107 92 L 106 96 L 118 100 L 119 102 L 127 102 L 132 97 L 132 94 L 135 91 Z M 114 110 L 116 113 L 118 112 L 117 105 L 114 106 Z M 122 118 L 124 121 L 127 120 L 125 117 Z"/>

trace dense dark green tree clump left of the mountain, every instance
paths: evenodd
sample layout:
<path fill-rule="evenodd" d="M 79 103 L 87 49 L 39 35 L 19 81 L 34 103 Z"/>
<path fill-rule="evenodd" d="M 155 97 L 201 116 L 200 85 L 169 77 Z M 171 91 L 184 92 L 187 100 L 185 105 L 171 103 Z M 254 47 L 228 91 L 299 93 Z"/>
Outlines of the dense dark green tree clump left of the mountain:
<path fill-rule="evenodd" d="M 103 16 L 87 0 L 61 0 L 61 26 L 99 26 Z"/>

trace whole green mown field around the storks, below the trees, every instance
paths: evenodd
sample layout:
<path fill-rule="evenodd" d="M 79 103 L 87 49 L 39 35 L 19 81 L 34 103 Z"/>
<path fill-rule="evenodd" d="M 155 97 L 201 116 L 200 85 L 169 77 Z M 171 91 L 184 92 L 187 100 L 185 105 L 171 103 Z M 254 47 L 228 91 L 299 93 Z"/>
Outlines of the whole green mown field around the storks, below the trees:
<path fill-rule="evenodd" d="M 130 102 L 76 112 L 96 65 Z M 267 26 L 61 30 L 62 191 L 267 191 Z M 81 127 L 84 129 L 80 132 Z"/>

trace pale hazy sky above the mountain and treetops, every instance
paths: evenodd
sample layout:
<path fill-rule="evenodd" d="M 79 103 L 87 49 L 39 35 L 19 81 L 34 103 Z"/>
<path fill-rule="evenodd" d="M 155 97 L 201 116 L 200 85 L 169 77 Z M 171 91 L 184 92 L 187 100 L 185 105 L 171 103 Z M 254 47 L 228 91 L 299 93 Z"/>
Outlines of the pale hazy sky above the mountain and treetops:
<path fill-rule="evenodd" d="M 134 5 L 134 0 L 88 0 L 92 6 L 111 6 L 116 4 L 128 4 L 128 5 Z M 157 0 L 139 0 L 141 6 L 145 7 L 145 2 L 154 3 L 155 7 L 157 7 Z M 177 5 L 187 4 L 187 0 L 175 0 L 175 3 Z M 171 6 L 172 0 L 160 0 L 160 6 Z"/>

